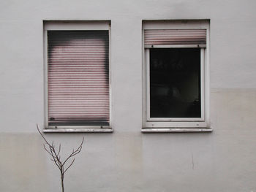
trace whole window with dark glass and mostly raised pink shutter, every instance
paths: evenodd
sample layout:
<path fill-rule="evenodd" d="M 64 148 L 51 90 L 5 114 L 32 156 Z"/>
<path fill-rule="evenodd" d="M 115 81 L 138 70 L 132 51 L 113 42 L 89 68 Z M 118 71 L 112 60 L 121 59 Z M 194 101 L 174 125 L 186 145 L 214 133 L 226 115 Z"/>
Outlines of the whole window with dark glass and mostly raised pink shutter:
<path fill-rule="evenodd" d="M 208 128 L 208 21 L 145 21 L 144 128 Z"/>

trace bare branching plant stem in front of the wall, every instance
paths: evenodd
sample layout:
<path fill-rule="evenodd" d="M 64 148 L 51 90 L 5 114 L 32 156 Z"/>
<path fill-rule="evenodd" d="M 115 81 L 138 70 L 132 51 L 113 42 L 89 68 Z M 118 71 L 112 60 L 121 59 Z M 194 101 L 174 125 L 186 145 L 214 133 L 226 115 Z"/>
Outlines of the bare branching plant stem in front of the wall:
<path fill-rule="evenodd" d="M 54 143 L 52 142 L 50 144 L 48 142 L 48 140 L 45 139 L 42 132 L 39 131 L 38 125 L 37 125 L 37 131 L 42 136 L 42 139 L 45 140 L 44 148 L 50 154 L 50 156 L 51 156 L 50 160 L 53 161 L 54 164 L 56 164 L 56 166 L 58 166 L 59 171 L 61 172 L 61 189 L 62 189 L 62 192 L 64 192 L 64 174 L 65 174 L 65 172 L 67 172 L 67 169 L 69 169 L 69 167 L 72 166 L 72 164 L 75 161 L 75 158 L 72 159 L 71 163 L 68 166 L 64 166 L 64 165 L 67 163 L 67 161 L 70 158 L 72 158 L 75 155 L 77 155 L 78 153 L 80 153 L 80 151 L 82 150 L 84 137 L 83 137 L 82 142 L 79 145 L 79 147 L 76 150 L 73 149 L 72 153 L 70 153 L 70 155 L 64 161 L 61 161 L 61 155 L 59 155 L 59 153 L 61 152 L 61 144 L 59 144 L 59 149 L 56 150 Z"/>

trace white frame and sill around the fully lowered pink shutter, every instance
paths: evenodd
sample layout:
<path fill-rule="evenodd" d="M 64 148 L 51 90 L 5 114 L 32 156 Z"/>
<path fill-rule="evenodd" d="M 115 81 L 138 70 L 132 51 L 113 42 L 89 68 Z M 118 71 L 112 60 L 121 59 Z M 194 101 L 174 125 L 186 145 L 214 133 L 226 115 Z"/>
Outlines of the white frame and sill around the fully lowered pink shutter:
<path fill-rule="evenodd" d="M 45 83 L 45 128 L 44 132 L 113 132 L 111 125 L 111 64 L 110 64 L 110 39 L 111 39 L 111 24 L 110 20 L 44 20 L 43 21 L 43 39 L 44 39 L 44 83 Z M 106 30 L 109 34 L 109 126 L 49 126 L 48 125 L 48 31 L 97 31 Z"/>

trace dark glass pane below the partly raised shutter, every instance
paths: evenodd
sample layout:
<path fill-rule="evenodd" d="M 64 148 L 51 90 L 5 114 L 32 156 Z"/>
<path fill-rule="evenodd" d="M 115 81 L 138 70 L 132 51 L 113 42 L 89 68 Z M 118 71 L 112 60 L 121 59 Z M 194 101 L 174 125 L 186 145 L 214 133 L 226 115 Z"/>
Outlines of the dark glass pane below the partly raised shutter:
<path fill-rule="evenodd" d="M 200 48 L 150 49 L 150 117 L 200 118 Z"/>

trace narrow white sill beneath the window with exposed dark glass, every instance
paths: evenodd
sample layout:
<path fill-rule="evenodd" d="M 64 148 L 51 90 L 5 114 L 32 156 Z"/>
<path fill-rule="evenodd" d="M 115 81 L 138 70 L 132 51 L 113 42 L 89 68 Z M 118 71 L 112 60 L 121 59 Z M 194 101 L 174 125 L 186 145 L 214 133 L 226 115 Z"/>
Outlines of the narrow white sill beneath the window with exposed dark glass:
<path fill-rule="evenodd" d="M 187 133 L 187 132 L 211 132 L 212 128 L 195 127 L 195 128 L 141 128 L 143 133 Z"/>

